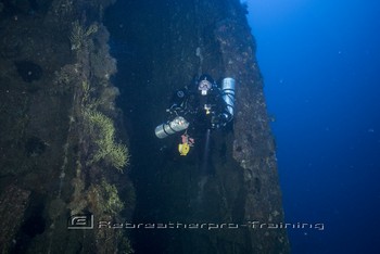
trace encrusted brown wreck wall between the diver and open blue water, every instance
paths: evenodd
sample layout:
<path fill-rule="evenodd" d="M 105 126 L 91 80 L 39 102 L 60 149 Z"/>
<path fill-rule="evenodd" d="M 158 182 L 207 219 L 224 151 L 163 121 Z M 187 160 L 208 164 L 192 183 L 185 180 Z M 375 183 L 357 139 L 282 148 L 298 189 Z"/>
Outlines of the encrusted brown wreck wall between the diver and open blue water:
<path fill-rule="evenodd" d="M 244 204 L 241 208 L 245 220 L 276 225 L 283 223 L 276 148 L 254 59 L 255 45 L 241 18 L 235 15 L 233 20 L 221 22 L 215 31 L 226 75 L 238 80 L 232 154 L 243 175 Z M 259 233 L 251 233 L 250 239 L 254 252 L 287 250 L 283 230 L 262 229 Z"/>

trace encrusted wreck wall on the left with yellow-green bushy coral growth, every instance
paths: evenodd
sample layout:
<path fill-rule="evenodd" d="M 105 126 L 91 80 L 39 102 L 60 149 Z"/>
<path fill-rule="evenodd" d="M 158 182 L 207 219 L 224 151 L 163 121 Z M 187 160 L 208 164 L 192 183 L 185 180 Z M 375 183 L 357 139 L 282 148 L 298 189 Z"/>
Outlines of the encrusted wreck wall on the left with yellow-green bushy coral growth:
<path fill-rule="evenodd" d="M 111 221 L 134 209 L 101 23 L 112 2 L 0 1 L 2 253 L 131 251 L 123 230 L 68 229 L 71 216 Z"/>

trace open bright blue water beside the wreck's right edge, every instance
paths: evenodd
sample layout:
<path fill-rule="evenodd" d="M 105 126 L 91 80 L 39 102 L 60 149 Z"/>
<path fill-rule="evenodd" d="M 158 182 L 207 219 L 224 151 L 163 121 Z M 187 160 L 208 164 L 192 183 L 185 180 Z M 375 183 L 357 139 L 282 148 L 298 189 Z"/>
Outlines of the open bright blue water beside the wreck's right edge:
<path fill-rule="evenodd" d="M 248 4 L 292 253 L 380 253 L 380 2 Z"/>

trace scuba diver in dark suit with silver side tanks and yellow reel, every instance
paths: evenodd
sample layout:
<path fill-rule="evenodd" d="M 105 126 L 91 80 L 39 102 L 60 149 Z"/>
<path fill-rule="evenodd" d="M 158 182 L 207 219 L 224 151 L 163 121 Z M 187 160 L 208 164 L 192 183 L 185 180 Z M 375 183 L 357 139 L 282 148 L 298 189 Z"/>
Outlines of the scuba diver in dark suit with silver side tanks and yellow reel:
<path fill-rule="evenodd" d="M 183 131 L 178 152 L 186 156 L 197 134 L 210 134 L 233 118 L 235 79 L 227 77 L 219 87 L 210 75 L 202 75 L 190 87 L 177 90 L 166 110 L 168 119 L 155 128 L 157 138 Z"/>

